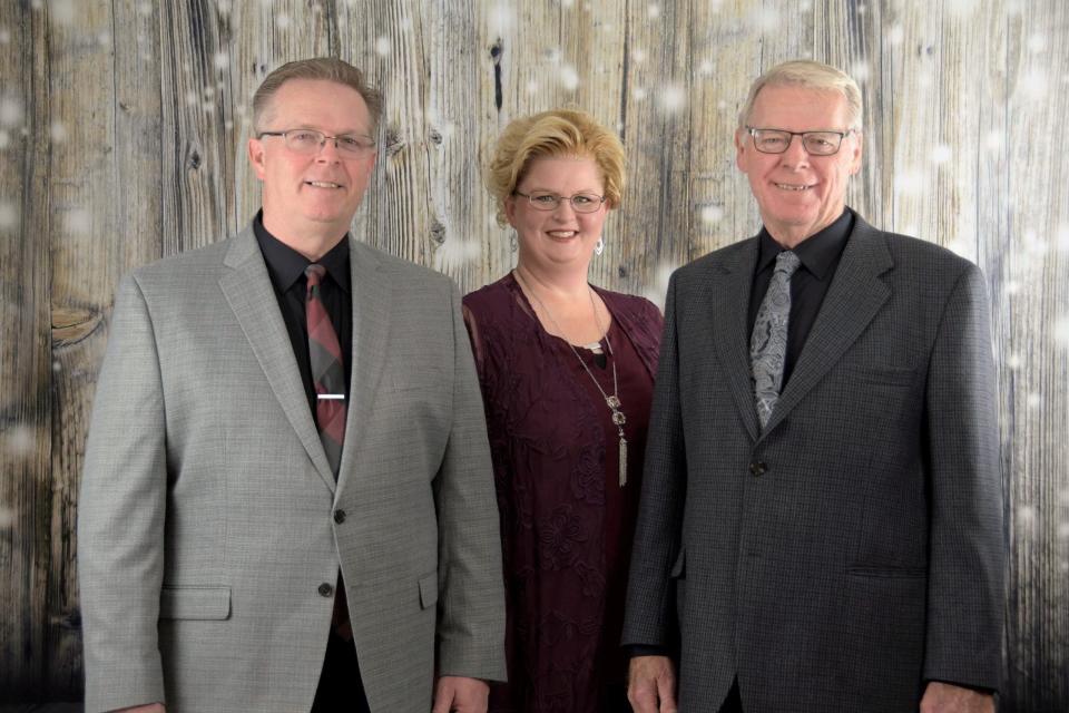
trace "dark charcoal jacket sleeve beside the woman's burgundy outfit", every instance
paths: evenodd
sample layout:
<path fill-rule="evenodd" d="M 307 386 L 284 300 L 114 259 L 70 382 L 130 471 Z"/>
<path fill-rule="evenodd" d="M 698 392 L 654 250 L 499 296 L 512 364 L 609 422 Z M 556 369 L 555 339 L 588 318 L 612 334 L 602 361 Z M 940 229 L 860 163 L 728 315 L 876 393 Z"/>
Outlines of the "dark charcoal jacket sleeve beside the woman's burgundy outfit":
<path fill-rule="evenodd" d="M 679 403 L 677 276 L 673 275 L 668 285 L 665 331 L 646 436 L 643 492 L 621 638 L 625 646 L 670 647 L 676 639 L 675 587 L 669 573 L 679 554 L 687 478 Z"/>

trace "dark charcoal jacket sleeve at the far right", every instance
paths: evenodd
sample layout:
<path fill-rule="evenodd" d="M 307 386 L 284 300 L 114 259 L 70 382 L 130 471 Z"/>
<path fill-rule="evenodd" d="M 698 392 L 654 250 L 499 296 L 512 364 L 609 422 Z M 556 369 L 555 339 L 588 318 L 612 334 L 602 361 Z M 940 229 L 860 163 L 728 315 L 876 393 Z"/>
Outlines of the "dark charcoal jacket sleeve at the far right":
<path fill-rule="evenodd" d="M 987 305 L 983 276 L 969 265 L 947 302 L 929 364 L 924 678 L 998 688 L 1006 545 Z"/>

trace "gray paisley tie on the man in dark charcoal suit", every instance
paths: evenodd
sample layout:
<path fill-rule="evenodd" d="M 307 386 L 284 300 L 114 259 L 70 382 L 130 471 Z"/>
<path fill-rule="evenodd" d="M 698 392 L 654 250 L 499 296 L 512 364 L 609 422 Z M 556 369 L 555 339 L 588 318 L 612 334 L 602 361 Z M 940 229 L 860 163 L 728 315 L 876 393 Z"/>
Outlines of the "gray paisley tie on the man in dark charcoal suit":
<path fill-rule="evenodd" d="M 749 338 L 754 402 L 762 429 L 772 416 L 772 409 L 779 399 L 779 388 L 783 385 L 783 363 L 787 355 L 787 321 L 791 316 L 791 276 L 798 268 L 798 256 L 791 251 L 784 251 L 776 256 L 776 270 L 757 311 L 754 332 Z"/>

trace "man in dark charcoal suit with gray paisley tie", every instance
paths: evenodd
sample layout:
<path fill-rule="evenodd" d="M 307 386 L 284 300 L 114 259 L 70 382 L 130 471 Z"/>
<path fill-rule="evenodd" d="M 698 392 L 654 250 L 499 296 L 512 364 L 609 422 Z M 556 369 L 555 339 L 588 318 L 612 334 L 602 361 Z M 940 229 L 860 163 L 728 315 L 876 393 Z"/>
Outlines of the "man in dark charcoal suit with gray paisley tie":
<path fill-rule="evenodd" d="M 861 94 L 757 79 L 764 228 L 668 287 L 624 644 L 638 713 L 992 711 L 1002 495 L 983 279 L 844 196 Z"/>

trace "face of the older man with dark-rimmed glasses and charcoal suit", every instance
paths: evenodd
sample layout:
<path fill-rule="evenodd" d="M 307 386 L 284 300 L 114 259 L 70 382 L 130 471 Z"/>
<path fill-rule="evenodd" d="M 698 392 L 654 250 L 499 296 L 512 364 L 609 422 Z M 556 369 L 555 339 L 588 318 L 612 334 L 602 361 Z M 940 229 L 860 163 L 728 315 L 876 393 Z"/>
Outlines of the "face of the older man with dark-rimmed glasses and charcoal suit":
<path fill-rule="evenodd" d="M 749 126 L 787 131 L 845 131 L 846 98 L 837 91 L 793 86 L 761 90 Z M 794 246 L 827 227 L 845 206 L 849 177 L 861 168 L 861 136 L 843 138 L 838 153 L 811 156 L 802 137 L 783 154 L 763 154 L 745 129 L 735 134 L 736 163 L 749 178 L 765 227 L 781 244 Z"/>

